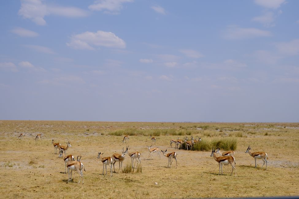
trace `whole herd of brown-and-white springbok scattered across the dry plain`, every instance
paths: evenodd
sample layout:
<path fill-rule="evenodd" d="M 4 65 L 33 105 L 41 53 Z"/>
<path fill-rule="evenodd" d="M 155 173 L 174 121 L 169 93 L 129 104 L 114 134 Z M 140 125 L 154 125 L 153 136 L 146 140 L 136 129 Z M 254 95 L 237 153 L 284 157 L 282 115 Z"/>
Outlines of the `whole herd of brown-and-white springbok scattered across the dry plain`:
<path fill-rule="evenodd" d="M 18 136 L 18 139 L 21 139 L 23 136 L 24 136 L 24 134 L 21 133 Z M 35 137 L 36 141 L 39 140 L 39 139 L 41 139 L 41 134 L 37 134 L 36 137 Z M 157 156 L 159 156 L 160 159 L 161 159 L 160 149 L 157 148 L 157 147 L 151 148 L 153 144 L 154 145 L 156 144 L 156 137 L 150 136 L 150 139 L 151 139 L 152 143 L 151 143 L 151 146 L 148 146 L 148 151 L 149 151 L 148 157 L 151 157 L 151 160 L 153 160 L 153 157 L 151 156 L 151 154 L 152 153 L 157 153 Z M 67 168 L 68 182 L 72 179 L 72 171 L 74 171 L 74 174 L 75 174 L 75 171 L 77 171 L 77 173 L 82 178 L 82 184 L 83 184 L 84 181 L 83 181 L 82 169 L 85 171 L 85 168 L 84 168 L 83 163 L 80 162 L 81 156 L 77 156 L 77 160 L 75 161 L 75 158 L 74 158 L 73 155 L 66 155 L 67 149 L 69 147 L 72 147 L 71 144 L 70 144 L 70 141 L 68 141 L 66 143 L 67 144 L 66 146 L 61 145 L 60 143 L 55 143 L 54 141 L 55 140 L 52 139 L 52 144 L 54 146 L 55 154 L 57 154 L 57 150 L 59 149 L 59 157 L 63 157 L 63 160 L 64 160 L 64 165 L 65 165 L 64 173 L 66 173 L 66 168 Z M 184 137 L 183 140 L 178 138 L 176 140 L 171 140 L 170 145 L 171 145 L 171 148 L 172 148 L 172 143 L 175 143 L 175 148 L 182 149 L 182 145 L 185 143 L 186 144 L 185 149 L 187 148 L 187 150 L 188 150 L 188 148 L 190 148 L 190 151 L 191 151 L 191 148 L 194 145 L 194 143 L 197 143 L 197 142 L 200 142 L 200 141 L 201 141 L 200 137 L 198 137 L 198 139 L 194 139 L 194 137 L 191 136 L 190 141 L 188 141 L 187 137 Z M 126 143 L 126 144 L 129 143 L 129 136 L 125 135 L 122 142 Z M 255 168 L 256 168 L 256 159 L 262 159 L 263 160 L 263 166 L 266 163 L 266 169 L 267 169 L 267 160 L 266 159 L 268 158 L 268 155 L 265 152 L 250 152 L 250 149 L 251 149 L 251 147 L 248 146 L 245 153 L 248 153 L 250 156 L 252 156 L 255 159 Z M 168 157 L 167 168 L 171 167 L 173 159 L 175 159 L 175 162 L 176 162 L 175 167 L 177 168 L 177 153 L 176 152 L 166 153 L 167 149 L 166 150 L 161 150 L 161 152 L 163 153 L 163 156 Z M 217 155 L 216 155 L 217 153 L 220 154 L 219 157 L 217 157 Z M 116 162 L 119 163 L 118 171 L 120 172 L 122 170 L 122 162 L 125 160 L 125 155 L 126 154 L 128 154 L 128 156 L 131 158 L 132 168 L 135 168 L 134 164 L 133 164 L 134 159 L 137 162 L 136 167 L 138 167 L 138 164 L 141 165 L 141 160 L 140 160 L 141 153 L 137 152 L 137 151 L 130 153 L 128 146 L 126 147 L 126 150 L 124 150 L 124 148 L 122 149 L 121 154 L 114 153 L 111 157 L 110 156 L 103 157 L 102 156 L 103 154 L 104 153 L 98 152 L 98 159 L 100 159 L 103 163 L 102 175 L 104 175 L 104 167 L 106 169 L 106 175 L 107 175 L 107 165 L 108 165 L 110 167 L 110 176 L 113 176 L 113 169 L 114 169 L 114 172 L 115 172 L 114 164 Z M 216 151 L 215 151 L 215 148 L 212 148 L 211 157 L 213 156 L 214 159 L 219 163 L 219 173 L 218 173 L 218 175 L 220 175 L 220 167 L 221 167 L 221 175 L 223 174 L 222 165 L 230 164 L 232 166 L 232 172 L 235 169 L 235 176 L 236 176 L 236 166 L 235 166 L 236 165 L 236 159 L 235 159 L 234 155 L 235 155 L 234 151 L 220 152 L 220 148 L 217 148 Z M 112 165 L 113 165 L 113 169 L 112 169 Z M 263 166 L 262 166 L 262 168 L 263 168 Z M 232 175 L 232 172 L 231 172 L 230 175 Z M 70 176 L 70 174 L 71 174 L 71 176 Z M 79 181 L 79 183 L 80 183 L 80 181 Z"/>

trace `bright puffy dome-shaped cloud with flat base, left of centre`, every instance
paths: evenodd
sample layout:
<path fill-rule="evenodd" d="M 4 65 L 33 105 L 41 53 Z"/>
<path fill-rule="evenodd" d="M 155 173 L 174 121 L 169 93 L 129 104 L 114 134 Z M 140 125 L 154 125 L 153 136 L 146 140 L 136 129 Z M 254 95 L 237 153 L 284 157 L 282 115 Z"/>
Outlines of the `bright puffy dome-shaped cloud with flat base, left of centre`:
<path fill-rule="evenodd" d="M 125 48 L 124 40 L 116 36 L 112 32 L 97 31 L 97 32 L 83 32 L 78 35 L 71 36 L 70 43 L 67 46 L 74 49 L 94 50 L 92 46 L 104 46 L 110 48 Z"/>

